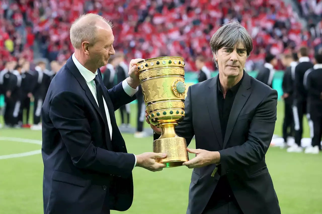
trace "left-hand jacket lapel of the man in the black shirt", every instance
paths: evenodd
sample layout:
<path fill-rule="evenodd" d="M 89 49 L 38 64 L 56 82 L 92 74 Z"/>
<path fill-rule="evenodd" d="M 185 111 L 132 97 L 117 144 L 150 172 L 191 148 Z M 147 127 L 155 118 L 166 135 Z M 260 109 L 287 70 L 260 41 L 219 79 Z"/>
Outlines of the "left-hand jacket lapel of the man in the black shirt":
<path fill-rule="evenodd" d="M 208 109 L 210 121 L 213 125 L 213 130 L 217 136 L 218 143 L 220 147 L 223 147 L 223 136 L 222 136 L 219 112 L 218 112 L 217 78 L 218 78 L 218 75 L 212 79 L 209 85 L 209 94 L 211 94 L 213 98 L 207 99 L 207 109 Z"/>

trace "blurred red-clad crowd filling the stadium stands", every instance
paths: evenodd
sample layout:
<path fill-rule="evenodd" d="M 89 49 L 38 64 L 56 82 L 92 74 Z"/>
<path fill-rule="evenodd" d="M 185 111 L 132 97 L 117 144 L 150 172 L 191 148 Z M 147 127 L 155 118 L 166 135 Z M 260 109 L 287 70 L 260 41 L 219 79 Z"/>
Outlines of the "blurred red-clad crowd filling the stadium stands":
<path fill-rule="evenodd" d="M 12 59 L 33 60 L 36 51 L 49 61 L 66 60 L 72 53 L 71 22 L 78 14 L 91 12 L 113 21 L 115 48 L 125 58 L 182 56 L 189 71 L 196 70 L 194 59 L 199 55 L 210 70 L 215 69 L 209 39 L 220 24 L 236 19 L 254 40 L 246 66 L 254 70 L 264 63 L 266 52 L 278 56 L 305 45 L 313 57 L 321 47 L 322 22 L 313 15 L 320 13 L 321 2 L 302 0 L 298 6 L 302 16 L 312 20 L 307 29 L 283 0 L 3 0 L 0 68 Z M 280 60 L 275 68 L 283 68 Z"/>

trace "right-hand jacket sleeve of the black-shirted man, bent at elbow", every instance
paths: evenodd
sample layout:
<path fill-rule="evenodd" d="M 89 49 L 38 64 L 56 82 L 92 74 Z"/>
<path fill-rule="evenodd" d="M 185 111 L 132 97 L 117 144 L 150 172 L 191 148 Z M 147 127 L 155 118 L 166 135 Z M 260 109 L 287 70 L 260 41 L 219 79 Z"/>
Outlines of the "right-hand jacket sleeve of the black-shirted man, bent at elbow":
<path fill-rule="evenodd" d="M 263 160 L 273 137 L 277 115 L 277 91 L 271 93 L 257 107 L 248 131 L 248 140 L 235 147 L 220 150 L 222 175 L 227 170 L 254 165 Z"/>

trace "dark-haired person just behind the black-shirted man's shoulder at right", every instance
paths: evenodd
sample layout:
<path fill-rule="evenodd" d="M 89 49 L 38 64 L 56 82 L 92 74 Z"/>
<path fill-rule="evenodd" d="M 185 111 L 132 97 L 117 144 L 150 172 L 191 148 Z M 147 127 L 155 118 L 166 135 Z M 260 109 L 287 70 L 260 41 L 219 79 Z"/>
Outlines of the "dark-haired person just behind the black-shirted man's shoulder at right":
<path fill-rule="evenodd" d="M 276 57 L 270 53 L 266 54 L 265 64 L 260 68 L 256 79 L 273 88 L 273 77 L 275 74 L 274 66 L 276 66 L 276 64 Z"/>

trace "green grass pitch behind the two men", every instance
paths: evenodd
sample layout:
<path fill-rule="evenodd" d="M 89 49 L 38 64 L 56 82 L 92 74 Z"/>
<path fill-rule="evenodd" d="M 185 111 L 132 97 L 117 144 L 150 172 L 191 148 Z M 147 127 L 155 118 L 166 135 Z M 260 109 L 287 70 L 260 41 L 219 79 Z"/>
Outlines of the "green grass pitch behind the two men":
<path fill-rule="evenodd" d="M 132 104 L 131 123 L 135 127 L 136 105 Z M 278 104 L 275 134 L 281 135 L 283 103 Z M 119 112 L 116 112 L 119 119 Z M 308 126 L 304 121 L 304 137 Z M 145 124 L 145 127 L 148 127 Z M 140 154 L 152 151 L 152 137 L 133 138 L 124 134 L 128 152 Z M 0 129 L 0 137 L 41 140 L 41 131 L 27 129 Z M 195 142 L 189 145 L 194 148 Z M 0 140 L 0 156 L 41 149 L 40 145 Z M 193 155 L 190 156 L 192 158 Z M 282 214 L 322 213 L 322 156 L 289 154 L 284 149 L 271 147 L 266 162 L 279 198 Z M 192 169 L 166 168 L 150 172 L 136 167 L 134 201 L 125 214 L 185 214 Z M 0 159 L 0 213 L 41 214 L 43 162 L 41 154 Z M 119 213 L 112 211 L 112 214 Z"/>

